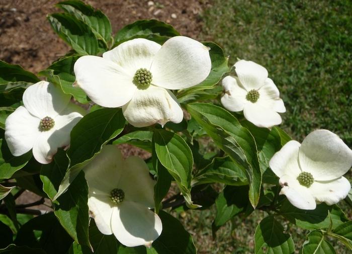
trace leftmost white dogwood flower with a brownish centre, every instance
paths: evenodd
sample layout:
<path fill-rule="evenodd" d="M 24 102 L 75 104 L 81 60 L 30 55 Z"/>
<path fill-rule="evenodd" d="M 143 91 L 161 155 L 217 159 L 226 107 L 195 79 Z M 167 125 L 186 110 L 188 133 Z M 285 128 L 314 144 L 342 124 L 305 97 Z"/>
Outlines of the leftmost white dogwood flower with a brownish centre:
<path fill-rule="evenodd" d="M 70 132 L 85 111 L 70 102 L 71 96 L 47 81 L 33 84 L 23 94 L 23 104 L 5 123 L 10 151 L 20 156 L 33 148 L 40 163 L 51 162 L 58 147 L 69 145 Z"/>

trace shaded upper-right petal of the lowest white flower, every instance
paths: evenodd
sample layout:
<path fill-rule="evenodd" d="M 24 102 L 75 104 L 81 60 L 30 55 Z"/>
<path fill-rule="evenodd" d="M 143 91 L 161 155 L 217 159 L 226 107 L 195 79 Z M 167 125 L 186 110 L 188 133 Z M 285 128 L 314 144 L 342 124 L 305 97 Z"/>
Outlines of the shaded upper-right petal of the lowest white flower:
<path fill-rule="evenodd" d="M 138 185 L 138 187 L 136 186 Z M 143 159 L 137 156 L 128 157 L 118 184 L 125 192 L 124 201 L 136 202 L 146 207 L 154 207 L 155 181 L 149 175 L 149 168 Z"/>

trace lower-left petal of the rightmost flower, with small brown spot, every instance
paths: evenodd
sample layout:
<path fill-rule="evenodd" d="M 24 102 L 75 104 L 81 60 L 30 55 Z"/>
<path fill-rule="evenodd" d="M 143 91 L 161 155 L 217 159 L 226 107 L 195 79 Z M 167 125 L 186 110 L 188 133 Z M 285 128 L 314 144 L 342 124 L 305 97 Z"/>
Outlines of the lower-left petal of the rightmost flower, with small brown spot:
<path fill-rule="evenodd" d="M 313 196 L 306 187 L 298 183 L 297 179 L 284 175 L 280 178 L 279 183 L 283 186 L 280 194 L 285 195 L 292 205 L 304 210 L 316 208 Z"/>

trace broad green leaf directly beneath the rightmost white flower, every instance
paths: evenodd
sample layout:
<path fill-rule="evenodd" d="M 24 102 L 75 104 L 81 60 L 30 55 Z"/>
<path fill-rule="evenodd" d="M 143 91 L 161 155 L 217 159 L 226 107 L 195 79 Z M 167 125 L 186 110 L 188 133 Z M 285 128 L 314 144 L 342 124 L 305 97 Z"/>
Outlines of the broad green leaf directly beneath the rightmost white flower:
<path fill-rule="evenodd" d="M 325 203 L 317 205 L 315 210 L 301 210 L 291 205 L 286 199 L 279 210 L 279 213 L 290 222 L 301 228 L 310 230 L 328 228 L 330 225 L 329 212 L 333 229 L 347 221 L 347 218 L 338 206 L 328 206 Z"/>

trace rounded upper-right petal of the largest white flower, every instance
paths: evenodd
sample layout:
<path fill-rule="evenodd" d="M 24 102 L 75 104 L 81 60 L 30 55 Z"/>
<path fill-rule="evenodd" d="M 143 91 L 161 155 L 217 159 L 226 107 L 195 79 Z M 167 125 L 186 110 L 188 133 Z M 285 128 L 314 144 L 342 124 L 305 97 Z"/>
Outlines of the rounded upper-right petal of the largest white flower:
<path fill-rule="evenodd" d="M 184 89 L 202 82 L 211 69 L 209 48 L 184 36 L 167 40 L 151 65 L 152 84 L 166 89 Z"/>

